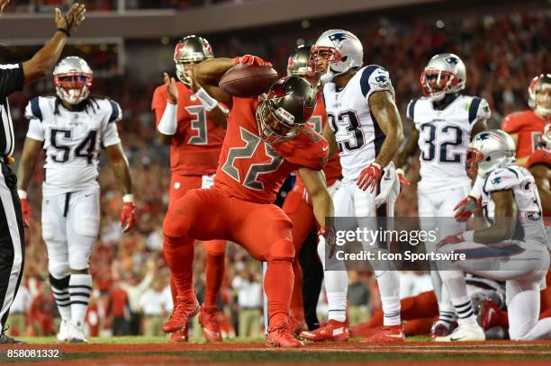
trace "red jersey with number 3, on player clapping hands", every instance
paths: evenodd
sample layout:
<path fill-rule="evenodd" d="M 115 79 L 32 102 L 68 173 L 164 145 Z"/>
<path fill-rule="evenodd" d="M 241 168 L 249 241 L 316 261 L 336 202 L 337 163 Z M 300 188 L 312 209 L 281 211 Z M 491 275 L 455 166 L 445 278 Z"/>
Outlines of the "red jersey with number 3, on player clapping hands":
<path fill-rule="evenodd" d="M 176 134 L 170 143 L 170 170 L 181 175 L 213 174 L 218 166 L 226 130 L 216 125 L 184 83 L 177 82 L 178 122 Z M 157 125 L 167 107 L 167 86 L 161 85 L 153 94 L 151 110 Z"/>

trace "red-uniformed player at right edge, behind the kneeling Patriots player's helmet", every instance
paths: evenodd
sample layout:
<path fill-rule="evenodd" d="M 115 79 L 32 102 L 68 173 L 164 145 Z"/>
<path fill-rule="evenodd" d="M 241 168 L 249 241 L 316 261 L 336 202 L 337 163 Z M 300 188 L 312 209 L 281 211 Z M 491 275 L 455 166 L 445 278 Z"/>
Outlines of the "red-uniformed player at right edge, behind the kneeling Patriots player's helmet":
<path fill-rule="evenodd" d="M 537 149 L 546 123 L 551 122 L 551 74 L 541 74 L 528 86 L 531 111 L 511 113 L 501 122 L 501 129 L 510 134 L 517 145 L 517 164 L 525 165 Z"/>

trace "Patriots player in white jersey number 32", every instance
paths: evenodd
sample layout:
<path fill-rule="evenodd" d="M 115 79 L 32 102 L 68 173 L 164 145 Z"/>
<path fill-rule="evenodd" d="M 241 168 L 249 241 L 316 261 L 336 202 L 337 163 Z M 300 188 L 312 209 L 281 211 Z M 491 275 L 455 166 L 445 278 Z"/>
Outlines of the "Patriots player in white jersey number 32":
<path fill-rule="evenodd" d="M 477 96 L 461 94 L 466 85 L 465 63 L 452 53 L 442 53 L 430 58 L 420 77 L 424 96 L 413 99 L 407 108 L 411 124 L 410 138 L 398 158 L 398 174 L 407 171 L 411 156 L 420 150 L 420 182 L 418 184 L 418 209 L 422 230 L 437 230 L 440 238 L 462 229 L 465 223 L 456 222 L 456 205 L 471 190 L 471 180 L 466 174 L 466 150 L 477 133 L 486 129 L 491 112 L 488 103 Z M 438 219 L 440 222 L 438 222 Z M 425 242 L 427 251 L 434 252 L 439 239 Z M 442 281 L 431 263 L 430 276 L 438 299 L 439 318 L 432 335 L 448 335 L 455 319 L 455 309 L 442 289 Z M 469 310 L 458 314 L 474 319 Z"/>

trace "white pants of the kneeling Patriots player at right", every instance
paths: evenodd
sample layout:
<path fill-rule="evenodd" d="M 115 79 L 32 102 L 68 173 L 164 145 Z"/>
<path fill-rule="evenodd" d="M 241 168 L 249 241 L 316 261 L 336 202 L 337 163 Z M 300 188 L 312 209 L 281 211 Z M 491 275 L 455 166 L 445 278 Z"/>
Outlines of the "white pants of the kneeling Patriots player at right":
<path fill-rule="evenodd" d="M 509 242 L 483 245 L 464 242 L 444 245 L 440 253 L 467 254 L 456 267 L 496 281 L 506 281 L 505 299 L 512 340 L 530 339 L 529 333 L 539 317 L 539 291 L 549 269 L 549 253 L 544 245 L 528 246 Z"/>

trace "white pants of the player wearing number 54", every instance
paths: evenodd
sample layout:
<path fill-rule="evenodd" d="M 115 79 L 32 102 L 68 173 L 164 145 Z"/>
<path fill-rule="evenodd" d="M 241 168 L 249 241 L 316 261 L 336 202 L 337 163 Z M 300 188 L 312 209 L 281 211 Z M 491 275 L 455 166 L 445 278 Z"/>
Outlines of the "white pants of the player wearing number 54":
<path fill-rule="evenodd" d="M 99 188 L 42 198 L 42 238 L 55 278 L 88 268 L 99 231 Z"/>

